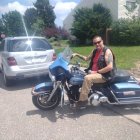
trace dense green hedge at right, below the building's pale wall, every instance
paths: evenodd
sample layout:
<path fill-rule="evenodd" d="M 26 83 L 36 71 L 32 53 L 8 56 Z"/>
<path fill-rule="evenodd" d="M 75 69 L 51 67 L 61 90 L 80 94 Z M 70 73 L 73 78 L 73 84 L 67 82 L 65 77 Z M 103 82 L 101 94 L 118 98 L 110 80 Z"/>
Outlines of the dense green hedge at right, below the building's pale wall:
<path fill-rule="evenodd" d="M 140 45 L 140 19 L 120 19 L 112 24 L 110 43 Z"/>

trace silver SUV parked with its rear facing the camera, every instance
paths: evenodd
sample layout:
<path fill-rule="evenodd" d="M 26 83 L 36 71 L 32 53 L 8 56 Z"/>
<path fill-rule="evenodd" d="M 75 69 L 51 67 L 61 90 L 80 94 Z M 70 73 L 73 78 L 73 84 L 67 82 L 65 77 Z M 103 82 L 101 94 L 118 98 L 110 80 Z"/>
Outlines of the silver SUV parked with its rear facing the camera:
<path fill-rule="evenodd" d="M 4 84 L 13 79 L 48 74 L 50 64 L 56 59 L 55 50 L 44 37 L 7 37 L 0 44 L 0 67 Z"/>

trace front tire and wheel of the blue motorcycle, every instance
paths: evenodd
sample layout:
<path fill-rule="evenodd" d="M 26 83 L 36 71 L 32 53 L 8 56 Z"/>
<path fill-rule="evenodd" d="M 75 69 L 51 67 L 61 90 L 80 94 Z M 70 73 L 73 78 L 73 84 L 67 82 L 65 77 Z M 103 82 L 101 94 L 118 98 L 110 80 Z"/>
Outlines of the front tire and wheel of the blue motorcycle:
<path fill-rule="evenodd" d="M 52 99 L 49 102 L 47 102 L 47 99 L 49 98 L 50 94 L 51 94 L 51 91 L 46 92 L 44 94 L 32 96 L 33 104 L 37 108 L 44 111 L 55 109 L 60 103 L 61 92 L 59 89 L 57 89 Z"/>

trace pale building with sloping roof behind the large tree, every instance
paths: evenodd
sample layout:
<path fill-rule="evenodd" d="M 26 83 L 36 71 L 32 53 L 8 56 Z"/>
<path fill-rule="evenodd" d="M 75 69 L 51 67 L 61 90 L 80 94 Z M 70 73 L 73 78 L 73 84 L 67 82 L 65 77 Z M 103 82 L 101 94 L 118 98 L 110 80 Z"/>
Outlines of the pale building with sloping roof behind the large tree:
<path fill-rule="evenodd" d="M 101 3 L 104 7 L 110 9 L 114 21 L 120 18 L 140 17 L 140 6 L 136 4 L 136 0 L 81 0 L 76 8 L 72 10 L 63 21 L 64 29 L 70 32 L 74 20 L 73 15 L 75 14 L 75 10 L 82 7 L 92 8 L 94 4 L 98 3 Z M 130 9 L 135 8 L 135 6 L 137 7 L 133 12 L 129 12 L 125 6 Z"/>

